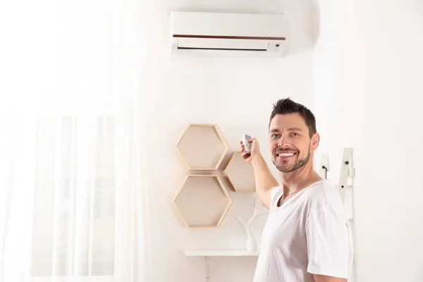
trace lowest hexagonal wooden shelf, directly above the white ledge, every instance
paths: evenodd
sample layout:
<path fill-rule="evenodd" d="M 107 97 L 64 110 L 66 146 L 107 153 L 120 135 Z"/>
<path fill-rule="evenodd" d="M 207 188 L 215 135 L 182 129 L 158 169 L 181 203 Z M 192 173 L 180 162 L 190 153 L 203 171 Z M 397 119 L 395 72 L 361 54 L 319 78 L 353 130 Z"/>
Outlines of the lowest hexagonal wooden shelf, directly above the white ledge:
<path fill-rule="evenodd" d="M 217 175 L 189 175 L 173 200 L 187 227 L 219 227 L 232 198 Z"/>

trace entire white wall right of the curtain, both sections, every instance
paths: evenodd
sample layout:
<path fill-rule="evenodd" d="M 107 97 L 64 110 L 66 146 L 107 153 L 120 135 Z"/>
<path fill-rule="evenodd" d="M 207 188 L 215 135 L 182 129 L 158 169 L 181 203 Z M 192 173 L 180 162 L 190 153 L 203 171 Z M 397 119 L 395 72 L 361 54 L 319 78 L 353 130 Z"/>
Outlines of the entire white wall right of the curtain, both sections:
<path fill-rule="evenodd" d="M 147 38 L 157 42 L 147 46 L 142 76 L 154 282 L 202 281 L 204 261 L 184 257 L 185 248 L 242 248 L 245 242 L 234 219 L 250 212 L 248 195 L 232 193 L 234 204 L 221 228 L 190 230 L 174 213 L 171 196 L 186 173 L 175 145 L 185 126 L 218 123 L 231 150 L 244 131 L 265 143 L 271 103 L 287 96 L 317 115 L 319 152 L 331 155 L 333 180 L 343 147 L 354 148 L 357 281 L 422 281 L 422 4 L 321 1 L 320 22 L 313 26 L 310 2 L 162 1 L 142 11 L 148 15 Z M 292 20 L 293 55 L 281 61 L 172 59 L 167 56 L 172 9 L 284 11 Z M 318 27 L 312 54 L 307 49 Z M 262 223 L 255 226 L 257 238 Z M 255 259 L 215 259 L 212 281 L 251 281 L 254 267 Z"/>

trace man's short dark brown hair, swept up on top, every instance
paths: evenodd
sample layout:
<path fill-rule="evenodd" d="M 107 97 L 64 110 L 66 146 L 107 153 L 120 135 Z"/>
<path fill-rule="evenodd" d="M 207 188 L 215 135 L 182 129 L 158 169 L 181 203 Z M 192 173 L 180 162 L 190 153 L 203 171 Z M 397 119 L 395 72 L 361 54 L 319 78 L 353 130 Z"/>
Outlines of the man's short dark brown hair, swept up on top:
<path fill-rule="evenodd" d="M 314 133 L 317 132 L 316 130 L 316 118 L 314 118 L 314 114 L 307 109 L 304 105 L 298 104 L 293 102 L 290 98 L 280 99 L 278 102 L 274 104 L 274 109 L 271 111 L 270 120 L 269 120 L 269 127 L 270 122 L 274 116 L 277 114 L 293 114 L 298 113 L 302 118 L 304 118 L 305 124 L 309 129 L 309 137 L 311 138 Z"/>

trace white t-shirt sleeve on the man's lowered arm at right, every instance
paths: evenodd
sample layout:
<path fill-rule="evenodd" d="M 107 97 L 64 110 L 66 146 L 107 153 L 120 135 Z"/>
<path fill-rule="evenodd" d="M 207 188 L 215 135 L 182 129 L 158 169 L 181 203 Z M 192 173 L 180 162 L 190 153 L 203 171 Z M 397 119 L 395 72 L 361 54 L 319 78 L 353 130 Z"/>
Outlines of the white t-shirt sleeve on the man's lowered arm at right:
<path fill-rule="evenodd" d="M 311 208 L 305 224 L 311 274 L 350 276 L 350 231 L 344 211 L 325 204 Z"/>

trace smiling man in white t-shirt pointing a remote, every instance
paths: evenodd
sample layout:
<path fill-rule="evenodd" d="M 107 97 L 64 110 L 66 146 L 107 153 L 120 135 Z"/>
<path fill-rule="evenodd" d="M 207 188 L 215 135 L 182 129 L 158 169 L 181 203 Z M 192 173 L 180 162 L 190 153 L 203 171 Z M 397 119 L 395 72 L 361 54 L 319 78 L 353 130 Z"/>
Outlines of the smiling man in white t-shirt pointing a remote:
<path fill-rule="evenodd" d="M 314 115 L 302 104 L 281 99 L 269 122 L 269 149 L 281 185 L 271 175 L 252 138 L 256 190 L 269 208 L 255 282 L 346 282 L 353 248 L 343 202 L 333 184 L 313 169 L 319 145 Z"/>

